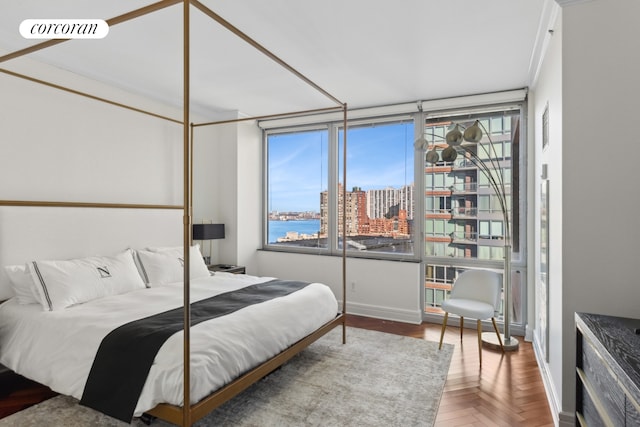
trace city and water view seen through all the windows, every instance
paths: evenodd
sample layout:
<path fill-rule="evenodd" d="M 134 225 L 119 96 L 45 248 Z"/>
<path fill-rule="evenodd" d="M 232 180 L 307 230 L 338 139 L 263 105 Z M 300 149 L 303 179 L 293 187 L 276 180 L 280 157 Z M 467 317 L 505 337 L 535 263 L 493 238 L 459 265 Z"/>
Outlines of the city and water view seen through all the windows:
<path fill-rule="evenodd" d="M 504 201 L 515 231 L 512 247 L 518 250 L 519 204 L 511 199 L 519 199 L 519 188 L 511 184 L 520 182 L 519 163 L 512 162 L 520 150 L 519 117 L 519 111 L 508 110 L 426 119 L 424 139 L 440 159 L 452 124 L 470 126 L 479 120 L 485 133 L 472 150 L 489 166 L 480 170 L 468 153 L 453 161 L 425 163 L 416 171 L 424 174 L 424 188 L 417 194 L 414 154 L 420 152 L 413 147 L 413 121 L 349 128 L 344 193 L 338 178 L 343 156 L 340 129 L 336 132 L 329 126 L 269 135 L 268 244 L 332 251 L 336 248 L 329 248 L 328 242 L 341 248 L 344 234 L 350 251 L 420 257 L 426 261 L 425 311 L 441 313 L 440 303 L 461 272 L 482 265 L 478 262 L 495 266 L 505 257 L 506 224 L 489 176 L 499 175 L 505 183 Z M 332 192 L 327 191 L 330 186 Z M 415 212 L 414 197 L 423 197 L 422 212 Z M 414 251 L 418 224 L 423 253 Z"/>

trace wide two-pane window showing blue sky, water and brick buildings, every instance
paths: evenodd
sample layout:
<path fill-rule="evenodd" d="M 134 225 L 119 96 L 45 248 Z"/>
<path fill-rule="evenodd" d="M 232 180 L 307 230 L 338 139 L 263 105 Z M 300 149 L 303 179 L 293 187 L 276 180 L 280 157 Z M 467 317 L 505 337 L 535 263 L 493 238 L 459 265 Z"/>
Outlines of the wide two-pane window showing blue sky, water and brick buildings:
<path fill-rule="evenodd" d="M 266 132 L 265 245 L 341 251 L 344 208 L 344 234 L 352 255 L 415 257 L 414 128 L 413 120 L 350 124 L 346 192 L 341 123 Z M 440 179 L 444 185 L 445 177 Z"/>

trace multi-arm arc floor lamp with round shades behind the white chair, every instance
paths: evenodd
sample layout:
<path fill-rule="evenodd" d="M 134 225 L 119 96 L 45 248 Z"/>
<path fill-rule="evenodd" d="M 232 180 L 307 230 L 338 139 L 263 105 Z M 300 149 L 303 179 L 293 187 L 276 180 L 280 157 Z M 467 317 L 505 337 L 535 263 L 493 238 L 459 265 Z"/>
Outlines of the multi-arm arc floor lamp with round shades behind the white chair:
<path fill-rule="evenodd" d="M 483 135 L 489 140 L 488 148 L 485 145 L 476 145 L 482 140 Z M 495 173 L 500 170 L 498 156 L 491 137 L 483 132 L 482 124 L 476 120 L 471 126 L 464 128 L 460 124 L 455 124 L 444 137 L 447 146 L 439 155 L 434 144 L 429 149 L 429 142 L 425 138 L 420 138 L 415 145 L 418 149 L 427 150 L 425 161 L 435 165 L 440 161 L 453 162 L 458 154 L 463 154 L 470 160 L 479 171 L 487 178 L 489 185 L 493 189 L 502 211 L 504 220 L 504 272 L 503 272 L 503 296 L 504 296 L 504 339 L 503 345 L 505 350 L 515 350 L 518 348 L 518 340 L 511 337 L 511 229 L 509 221 L 509 205 L 507 203 L 507 192 L 505 191 L 505 182 L 502 173 Z M 474 150 L 472 148 L 479 147 Z M 484 153 L 482 158 L 478 155 L 478 150 L 482 148 Z M 483 341 L 490 345 L 497 345 L 494 342 L 496 336 L 493 333 L 483 334 Z"/>

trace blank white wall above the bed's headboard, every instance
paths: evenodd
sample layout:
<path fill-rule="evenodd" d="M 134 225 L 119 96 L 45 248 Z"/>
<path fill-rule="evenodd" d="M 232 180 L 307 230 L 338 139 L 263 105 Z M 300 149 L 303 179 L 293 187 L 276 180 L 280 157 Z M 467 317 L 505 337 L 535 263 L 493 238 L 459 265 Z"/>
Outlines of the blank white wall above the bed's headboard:
<path fill-rule="evenodd" d="M 60 74 L 28 61 L 21 68 Z M 111 99 L 150 106 L 71 77 Z M 182 204 L 181 125 L 6 74 L 0 93 L 0 198 Z"/>

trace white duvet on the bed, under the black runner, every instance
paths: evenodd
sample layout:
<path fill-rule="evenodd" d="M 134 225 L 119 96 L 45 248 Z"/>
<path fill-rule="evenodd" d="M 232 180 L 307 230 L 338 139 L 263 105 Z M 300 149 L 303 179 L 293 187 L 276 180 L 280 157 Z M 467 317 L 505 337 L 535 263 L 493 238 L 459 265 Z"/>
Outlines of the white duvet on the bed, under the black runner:
<path fill-rule="evenodd" d="M 191 281 L 191 301 L 271 280 L 216 273 Z M 182 306 L 182 284 L 141 289 L 61 311 L 15 298 L 0 305 L 0 363 L 52 390 L 82 397 L 102 338 L 127 322 Z M 313 283 L 286 297 L 238 310 L 191 328 L 191 403 L 281 352 L 335 318 L 337 301 Z M 135 415 L 158 403 L 183 405 L 182 332 L 160 348 Z"/>

